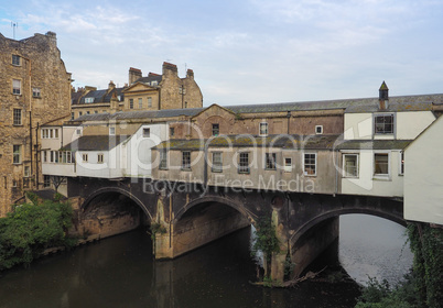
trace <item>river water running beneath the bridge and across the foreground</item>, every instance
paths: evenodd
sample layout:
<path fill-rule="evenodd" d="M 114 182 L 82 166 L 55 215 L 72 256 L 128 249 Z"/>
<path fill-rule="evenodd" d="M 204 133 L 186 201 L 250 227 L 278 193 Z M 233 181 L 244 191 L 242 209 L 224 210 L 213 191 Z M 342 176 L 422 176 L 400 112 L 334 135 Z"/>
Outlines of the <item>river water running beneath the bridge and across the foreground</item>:
<path fill-rule="evenodd" d="M 343 216 L 339 241 L 311 267 L 327 270 L 294 288 L 271 289 L 249 283 L 257 279 L 251 228 L 162 262 L 137 230 L 0 273 L 0 307 L 354 307 L 359 287 L 337 282 L 344 276 L 337 273 L 359 284 L 367 275 L 395 283 L 412 263 L 403 231 L 387 220 Z"/>

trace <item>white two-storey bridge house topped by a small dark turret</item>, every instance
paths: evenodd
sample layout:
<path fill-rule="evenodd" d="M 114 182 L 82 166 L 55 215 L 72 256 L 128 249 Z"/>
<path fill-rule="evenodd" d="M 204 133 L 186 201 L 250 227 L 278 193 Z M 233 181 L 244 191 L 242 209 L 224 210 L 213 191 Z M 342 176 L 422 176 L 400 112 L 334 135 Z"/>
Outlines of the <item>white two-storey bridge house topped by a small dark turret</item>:
<path fill-rule="evenodd" d="M 434 120 L 424 96 L 379 99 L 345 110 L 341 151 L 342 194 L 403 196 L 403 150 Z"/>

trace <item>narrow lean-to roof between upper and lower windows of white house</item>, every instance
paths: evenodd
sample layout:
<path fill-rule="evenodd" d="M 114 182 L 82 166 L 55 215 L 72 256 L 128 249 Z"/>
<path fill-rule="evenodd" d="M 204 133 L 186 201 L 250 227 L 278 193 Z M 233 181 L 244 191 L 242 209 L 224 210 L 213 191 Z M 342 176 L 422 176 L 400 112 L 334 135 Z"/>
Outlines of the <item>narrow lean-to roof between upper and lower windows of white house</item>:
<path fill-rule="evenodd" d="M 337 150 L 403 150 L 412 140 L 347 140 Z"/>

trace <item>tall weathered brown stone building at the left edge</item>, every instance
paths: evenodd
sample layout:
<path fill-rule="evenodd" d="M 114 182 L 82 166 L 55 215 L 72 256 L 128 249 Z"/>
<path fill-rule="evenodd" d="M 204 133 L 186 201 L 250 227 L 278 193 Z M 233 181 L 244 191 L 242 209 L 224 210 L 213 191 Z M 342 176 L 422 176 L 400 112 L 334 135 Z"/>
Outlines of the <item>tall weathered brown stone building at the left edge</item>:
<path fill-rule="evenodd" d="M 41 186 L 39 127 L 69 116 L 71 73 L 56 34 L 15 41 L 0 34 L 0 217 Z M 53 132 L 54 133 L 54 132 Z"/>

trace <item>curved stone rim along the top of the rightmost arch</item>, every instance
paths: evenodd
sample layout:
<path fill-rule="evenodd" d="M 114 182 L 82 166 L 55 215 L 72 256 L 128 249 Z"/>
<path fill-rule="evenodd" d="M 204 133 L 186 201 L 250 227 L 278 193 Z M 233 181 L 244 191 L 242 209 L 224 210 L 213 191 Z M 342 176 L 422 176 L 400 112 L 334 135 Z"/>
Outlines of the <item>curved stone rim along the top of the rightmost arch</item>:
<path fill-rule="evenodd" d="M 369 215 L 369 216 L 375 216 L 379 218 L 385 218 L 387 220 L 390 220 L 392 222 L 396 222 L 402 227 L 407 227 L 407 221 L 403 218 L 400 218 L 399 216 L 396 216 L 393 213 L 385 212 L 381 210 L 375 210 L 375 209 L 338 209 L 338 210 L 333 210 L 333 211 L 327 211 L 325 213 L 322 213 L 314 219 L 311 219 L 310 221 L 305 222 L 302 227 L 300 227 L 294 234 L 290 239 L 290 244 L 291 248 L 293 248 L 296 242 L 300 240 L 300 238 L 303 237 L 309 230 L 312 228 L 315 228 L 315 226 L 320 224 L 321 222 L 339 217 L 342 215 L 350 215 L 350 213 L 363 213 L 363 215 Z"/>

